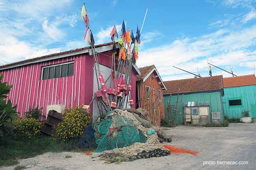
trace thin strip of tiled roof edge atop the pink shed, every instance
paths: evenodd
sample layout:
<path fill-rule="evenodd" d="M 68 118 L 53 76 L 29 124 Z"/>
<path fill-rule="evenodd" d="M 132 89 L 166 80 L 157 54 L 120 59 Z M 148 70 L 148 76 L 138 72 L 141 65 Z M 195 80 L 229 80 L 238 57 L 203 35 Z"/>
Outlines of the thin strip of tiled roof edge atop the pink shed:
<path fill-rule="evenodd" d="M 113 42 L 108 42 L 108 43 L 105 43 L 105 44 L 99 44 L 99 45 L 95 45 L 95 48 L 97 48 L 97 47 L 103 47 L 103 46 L 107 46 L 107 45 L 111 45 L 111 44 L 113 44 Z M 6 66 L 9 66 L 9 65 L 24 63 L 24 62 L 26 62 L 26 61 L 37 60 L 37 59 L 39 59 L 39 58 L 46 58 L 46 57 L 50 57 L 50 56 L 55 56 L 55 55 L 59 55 L 59 54 L 69 53 L 69 52 L 73 52 L 73 51 L 81 51 L 81 50 L 85 50 L 85 49 L 90 49 L 90 46 L 88 46 L 88 47 L 83 47 L 83 48 L 79 48 L 79 49 L 72 49 L 72 50 L 69 50 L 69 51 L 62 51 L 62 52 L 54 53 L 54 54 L 48 54 L 48 55 L 45 55 L 45 56 L 30 58 L 30 59 L 26 59 L 26 60 L 14 62 L 14 63 L 9 63 L 9 64 L 6 64 L 6 65 L 1 65 L 0 68 L 6 67 Z"/>

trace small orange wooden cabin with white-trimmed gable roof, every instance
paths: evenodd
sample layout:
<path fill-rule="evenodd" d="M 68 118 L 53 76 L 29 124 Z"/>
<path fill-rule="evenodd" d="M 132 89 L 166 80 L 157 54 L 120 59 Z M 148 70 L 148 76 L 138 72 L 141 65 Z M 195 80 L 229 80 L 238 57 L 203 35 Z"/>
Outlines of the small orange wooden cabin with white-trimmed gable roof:
<path fill-rule="evenodd" d="M 149 111 L 149 117 L 156 126 L 161 126 L 164 117 L 163 90 L 166 86 L 154 65 L 139 68 L 141 75 L 136 81 L 136 108 Z"/>

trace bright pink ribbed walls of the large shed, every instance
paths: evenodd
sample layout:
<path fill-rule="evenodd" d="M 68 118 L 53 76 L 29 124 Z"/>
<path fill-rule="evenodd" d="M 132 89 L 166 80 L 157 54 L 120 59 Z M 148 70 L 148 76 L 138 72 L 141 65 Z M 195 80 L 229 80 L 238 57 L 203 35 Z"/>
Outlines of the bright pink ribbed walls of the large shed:
<path fill-rule="evenodd" d="M 111 67 L 111 51 L 99 54 L 99 63 Z M 74 61 L 73 76 L 41 80 L 43 66 Z M 66 58 L 24 65 L 2 70 L 2 82 L 12 84 L 8 100 L 17 105 L 19 116 L 29 108 L 42 108 L 46 115 L 47 105 L 65 105 L 66 108 L 76 105 L 88 105 L 93 96 L 93 58 L 85 54 Z M 131 99 L 135 101 L 136 76 L 132 72 Z M 134 102 L 135 103 L 135 102 Z M 132 106 L 135 108 L 135 104 Z M 92 109 L 92 105 L 91 105 Z"/>

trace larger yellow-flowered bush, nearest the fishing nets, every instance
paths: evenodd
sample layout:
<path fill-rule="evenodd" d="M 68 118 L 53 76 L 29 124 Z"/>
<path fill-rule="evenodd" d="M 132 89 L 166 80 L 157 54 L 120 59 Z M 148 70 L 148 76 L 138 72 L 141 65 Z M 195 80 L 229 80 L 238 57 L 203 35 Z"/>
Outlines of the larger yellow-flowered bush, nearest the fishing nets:
<path fill-rule="evenodd" d="M 63 121 L 59 123 L 56 129 L 56 137 L 58 139 L 67 140 L 80 137 L 91 121 L 90 112 L 87 109 L 83 109 L 83 106 L 65 109 L 62 114 Z"/>

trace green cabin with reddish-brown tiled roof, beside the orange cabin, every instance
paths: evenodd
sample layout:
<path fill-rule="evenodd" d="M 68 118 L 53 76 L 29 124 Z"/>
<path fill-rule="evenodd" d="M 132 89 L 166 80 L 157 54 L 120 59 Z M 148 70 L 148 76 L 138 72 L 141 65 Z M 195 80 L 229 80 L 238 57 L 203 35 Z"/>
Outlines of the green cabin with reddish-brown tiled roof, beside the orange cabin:
<path fill-rule="evenodd" d="M 185 123 L 184 108 L 192 106 L 192 103 L 194 107 L 209 108 L 209 123 L 213 122 L 213 112 L 219 112 L 219 121 L 223 122 L 222 76 L 173 80 L 164 84 L 167 88 L 164 91 L 165 114 L 168 119 L 175 119 L 176 125 Z"/>

